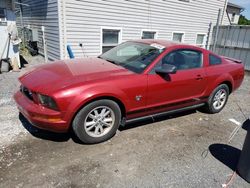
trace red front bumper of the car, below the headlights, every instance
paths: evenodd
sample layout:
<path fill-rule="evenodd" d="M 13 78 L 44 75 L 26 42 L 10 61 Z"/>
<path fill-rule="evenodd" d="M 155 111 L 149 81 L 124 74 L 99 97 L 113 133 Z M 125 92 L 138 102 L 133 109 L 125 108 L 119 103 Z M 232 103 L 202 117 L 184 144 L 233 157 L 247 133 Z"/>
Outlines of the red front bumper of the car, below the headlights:
<path fill-rule="evenodd" d="M 63 120 L 61 112 L 34 103 L 20 91 L 15 93 L 14 99 L 18 110 L 32 125 L 44 130 L 59 133 L 69 130 L 69 123 Z"/>

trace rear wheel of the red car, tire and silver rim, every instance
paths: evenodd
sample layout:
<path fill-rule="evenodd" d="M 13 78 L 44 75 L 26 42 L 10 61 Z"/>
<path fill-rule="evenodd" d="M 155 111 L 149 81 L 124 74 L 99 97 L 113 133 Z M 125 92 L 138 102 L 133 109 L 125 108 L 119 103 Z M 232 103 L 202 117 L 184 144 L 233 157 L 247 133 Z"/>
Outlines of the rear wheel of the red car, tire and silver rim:
<path fill-rule="evenodd" d="M 206 106 L 204 106 L 204 110 L 207 113 L 215 114 L 219 113 L 226 105 L 229 96 L 229 88 L 226 84 L 221 84 L 208 98 L 208 102 Z"/>

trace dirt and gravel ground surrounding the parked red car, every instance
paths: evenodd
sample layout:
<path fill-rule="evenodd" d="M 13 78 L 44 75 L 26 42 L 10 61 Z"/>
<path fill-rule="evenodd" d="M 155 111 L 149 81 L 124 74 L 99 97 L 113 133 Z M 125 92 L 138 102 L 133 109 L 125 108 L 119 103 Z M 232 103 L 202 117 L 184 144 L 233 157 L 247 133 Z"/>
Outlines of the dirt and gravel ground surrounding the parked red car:
<path fill-rule="evenodd" d="M 41 57 L 30 60 L 32 67 Z M 136 122 L 110 141 L 80 144 L 72 134 L 32 127 L 12 99 L 20 73 L 0 74 L 0 187 L 221 187 L 235 169 L 246 131 L 230 133 L 250 115 L 250 76 L 226 108 Z M 225 144 L 225 145 L 224 145 Z M 249 187 L 237 176 L 231 187 Z"/>

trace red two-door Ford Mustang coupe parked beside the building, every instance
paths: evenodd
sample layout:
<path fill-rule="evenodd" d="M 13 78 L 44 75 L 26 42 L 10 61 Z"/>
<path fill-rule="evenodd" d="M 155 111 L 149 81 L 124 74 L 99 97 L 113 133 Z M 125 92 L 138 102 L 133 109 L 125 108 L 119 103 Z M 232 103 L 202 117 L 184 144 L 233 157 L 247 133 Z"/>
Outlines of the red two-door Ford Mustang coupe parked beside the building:
<path fill-rule="evenodd" d="M 203 107 L 218 113 L 244 78 L 241 62 L 164 40 L 136 40 L 98 58 L 57 61 L 20 77 L 20 112 L 84 143 L 111 138 L 138 118 Z"/>

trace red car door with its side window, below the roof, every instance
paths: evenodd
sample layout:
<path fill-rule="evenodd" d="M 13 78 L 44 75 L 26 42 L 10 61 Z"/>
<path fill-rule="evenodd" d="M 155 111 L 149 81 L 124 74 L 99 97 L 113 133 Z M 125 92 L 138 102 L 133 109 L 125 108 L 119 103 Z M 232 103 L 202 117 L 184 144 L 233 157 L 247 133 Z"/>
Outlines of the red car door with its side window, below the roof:
<path fill-rule="evenodd" d="M 175 74 L 157 74 L 163 64 L 176 66 Z M 206 88 L 202 51 L 178 49 L 165 55 L 148 74 L 147 107 L 150 113 L 197 104 Z"/>

